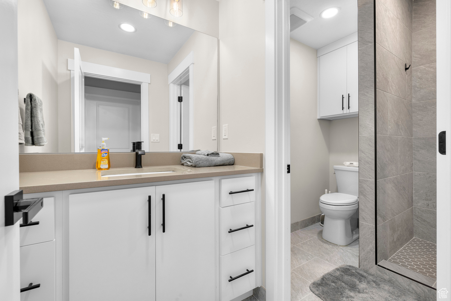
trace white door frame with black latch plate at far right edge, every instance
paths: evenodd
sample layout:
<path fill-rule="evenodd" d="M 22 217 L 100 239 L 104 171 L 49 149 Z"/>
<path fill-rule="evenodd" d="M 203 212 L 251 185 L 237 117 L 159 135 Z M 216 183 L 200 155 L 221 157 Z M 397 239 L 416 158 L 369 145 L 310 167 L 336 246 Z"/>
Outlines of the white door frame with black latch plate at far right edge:
<path fill-rule="evenodd" d="M 438 133 L 451 133 L 451 3 L 437 0 L 437 144 Z M 446 148 L 451 150 L 451 143 Z M 437 151 L 437 291 L 451 291 L 451 152 Z M 437 294 L 437 300 L 438 294 Z"/>

